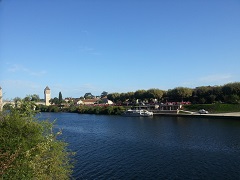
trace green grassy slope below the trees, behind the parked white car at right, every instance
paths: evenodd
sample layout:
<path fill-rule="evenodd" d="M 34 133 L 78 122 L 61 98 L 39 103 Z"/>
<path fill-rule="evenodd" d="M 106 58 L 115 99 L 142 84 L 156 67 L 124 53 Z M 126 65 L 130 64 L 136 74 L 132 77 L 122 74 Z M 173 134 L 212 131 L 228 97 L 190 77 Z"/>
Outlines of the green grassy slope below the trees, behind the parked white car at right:
<path fill-rule="evenodd" d="M 199 109 L 205 109 L 210 113 L 230 113 L 240 112 L 240 104 L 192 104 L 185 105 L 184 110 L 187 111 L 199 111 Z"/>

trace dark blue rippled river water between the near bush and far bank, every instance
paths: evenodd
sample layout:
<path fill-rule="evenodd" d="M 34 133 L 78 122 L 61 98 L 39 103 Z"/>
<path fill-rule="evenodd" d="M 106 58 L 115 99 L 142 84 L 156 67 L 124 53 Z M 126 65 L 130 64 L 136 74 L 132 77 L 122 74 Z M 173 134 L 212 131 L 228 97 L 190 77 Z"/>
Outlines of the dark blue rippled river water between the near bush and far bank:
<path fill-rule="evenodd" d="M 75 179 L 240 179 L 240 120 L 42 113 L 76 152 Z"/>

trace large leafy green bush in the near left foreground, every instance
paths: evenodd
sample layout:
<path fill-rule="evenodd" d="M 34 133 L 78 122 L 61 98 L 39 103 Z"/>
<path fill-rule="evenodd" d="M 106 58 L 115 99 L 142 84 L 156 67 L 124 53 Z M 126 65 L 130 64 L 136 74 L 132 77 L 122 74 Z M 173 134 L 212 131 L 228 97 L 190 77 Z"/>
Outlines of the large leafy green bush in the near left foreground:
<path fill-rule="evenodd" d="M 0 179 L 70 179 L 72 153 L 33 108 L 22 101 L 0 114 Z"/>

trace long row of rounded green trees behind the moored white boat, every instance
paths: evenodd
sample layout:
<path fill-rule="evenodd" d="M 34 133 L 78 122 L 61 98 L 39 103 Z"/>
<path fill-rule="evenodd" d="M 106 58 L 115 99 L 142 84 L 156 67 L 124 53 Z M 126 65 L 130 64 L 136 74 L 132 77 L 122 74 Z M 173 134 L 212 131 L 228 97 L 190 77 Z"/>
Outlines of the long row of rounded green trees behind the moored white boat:
<path fill-rule="evenodd" d="M 240 103 L 240 82 L 228 83 L 223 86 L 200 86 L 196 88 L 176 87 L 167 91 L 152 88 L 127 93 L 110 93 L 109 100 L 115 103 L 138 102 L 181 102 L 193 104 Z"/>

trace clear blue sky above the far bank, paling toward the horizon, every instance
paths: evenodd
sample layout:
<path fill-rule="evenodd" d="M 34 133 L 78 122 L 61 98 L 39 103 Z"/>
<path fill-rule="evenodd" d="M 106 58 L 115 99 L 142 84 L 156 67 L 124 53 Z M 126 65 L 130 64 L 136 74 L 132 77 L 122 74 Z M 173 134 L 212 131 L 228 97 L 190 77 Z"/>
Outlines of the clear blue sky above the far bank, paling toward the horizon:
<path fill-rule="evenodd" d="M 4 99 L 240 81 L 239 0 L 1 0 Z"/>

